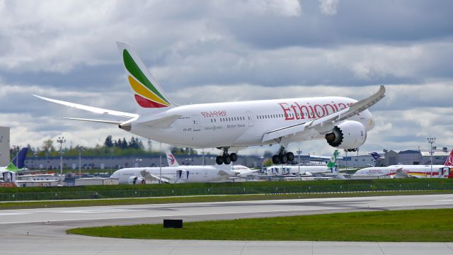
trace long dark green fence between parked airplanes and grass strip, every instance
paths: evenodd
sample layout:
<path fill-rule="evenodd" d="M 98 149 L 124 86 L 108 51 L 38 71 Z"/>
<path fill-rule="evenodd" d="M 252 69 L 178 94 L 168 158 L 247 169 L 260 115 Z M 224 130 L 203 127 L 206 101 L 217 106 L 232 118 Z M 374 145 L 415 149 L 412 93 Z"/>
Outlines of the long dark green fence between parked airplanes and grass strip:
<path fill-rule="evenodd" d="M 370 191 L 453 191 L 452 182 L 438 183 L 373 183 L 313 186 L 259 186 L 212 188 L 150 188 L 136 191 L 73 191 L 42 193 L 0 193 L 0 201 L 62 200 L 86 198 L 147 198 L 163 196 L 203 196 L 240 194 L 345 193 Z"/>

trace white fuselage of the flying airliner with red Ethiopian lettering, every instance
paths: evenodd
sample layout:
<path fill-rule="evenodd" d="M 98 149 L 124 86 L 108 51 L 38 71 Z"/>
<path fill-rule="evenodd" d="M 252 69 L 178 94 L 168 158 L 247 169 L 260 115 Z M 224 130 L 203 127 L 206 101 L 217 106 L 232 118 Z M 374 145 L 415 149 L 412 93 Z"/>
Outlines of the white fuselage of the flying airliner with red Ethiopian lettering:
<path fill-rule="evenodd" d="M 137 120 L 131 122 L 128 131 L 182 147 L 247 147 L 272 144 L 278 141 L 263 142 L 265 132 L 322 118 L 348 108 L 355 102 L 352 98 L 328 96 L 177 106 L 140 115 Z M 180 115 L 180 118 L 164 128 L 147 125 L 149 120 L 171 115 Z M 362 123 L 367 131 L 374 126 L 368 110 L 349 120 Z M 311 130 L 304 132 L 304 135 L 292 135 L 290 142 L 323 137 L 319 132 Z"/>

